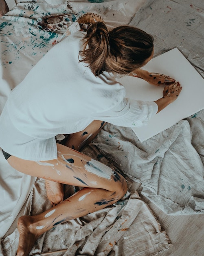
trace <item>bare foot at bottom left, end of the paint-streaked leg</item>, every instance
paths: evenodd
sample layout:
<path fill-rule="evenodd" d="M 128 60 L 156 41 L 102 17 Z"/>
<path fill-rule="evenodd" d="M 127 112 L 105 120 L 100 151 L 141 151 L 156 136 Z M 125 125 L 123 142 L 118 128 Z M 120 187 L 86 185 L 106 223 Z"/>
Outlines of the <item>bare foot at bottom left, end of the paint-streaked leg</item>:
<path fill-rule="evenodd" d="M 31 216 L 21 216 L 18 219 L 18 231 L 20 237 L 16 256 L 29 256 L 35 241 L 40 236 L 40 234 L 32 232 L 31 224 Z"/>

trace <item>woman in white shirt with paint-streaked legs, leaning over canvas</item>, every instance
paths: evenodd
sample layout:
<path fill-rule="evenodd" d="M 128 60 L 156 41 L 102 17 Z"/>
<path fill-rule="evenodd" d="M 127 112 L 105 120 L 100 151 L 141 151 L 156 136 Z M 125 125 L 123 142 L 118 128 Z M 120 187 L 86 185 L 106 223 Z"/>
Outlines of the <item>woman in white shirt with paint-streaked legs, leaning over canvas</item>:
<path fill-rule="evenodd" d="M 18 256 L 27 256 L 45 231 L 117 202 L 127 191 L 123 176 L 81 154 L 105 125 L 142 126 L 180 94 L 179 82 L 140 70 L 153 56 L 153 38 L 128 26 L 111 31 L 103 22 L 55 45 L 10 94 L 0 116 L 0 146 L 16 170 L 46 180 L 55 205 L 38 216 L 21 216 Z M 164 84 L 154 102 L 125 98 L 114 73 Z M 59 134 L 69 134 L 64 145 Z M 83 186 L 64 200 L 61 184 Z M 64 201 L 63 201 L 64 200 Z"/>

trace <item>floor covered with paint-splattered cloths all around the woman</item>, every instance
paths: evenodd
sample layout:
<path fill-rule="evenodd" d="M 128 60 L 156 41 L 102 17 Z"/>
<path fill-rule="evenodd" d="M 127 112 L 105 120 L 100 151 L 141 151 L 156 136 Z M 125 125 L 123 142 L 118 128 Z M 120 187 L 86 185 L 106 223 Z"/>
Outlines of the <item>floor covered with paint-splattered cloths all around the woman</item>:
<path fill-rule="evenodd" d="M 76 0 L 54 7 L 43 0 L 18 0 L 0 18 L 0 112 L 33 65 L 90 11 L 109 27 L 129 24 L 152 34 L 154 57 L 177 47 L 204 77 L 203 0 Z M 37 27 L 37 19 L 56 13 L 67 13 L 73 26 L 58 32 Z M 129 192 L 111 207 L 46 232 L 30 255 L 204 255 L 203 138 L 204 110 L 143 143 L 131 128 L 107 124 L 83 153 L 123 173 Z M 78 189 L 65 186 L 65 193 Z M 16 218 L 51 204 L 44 180 L 13 170 L 2 153 L 0 191 L 0 255 L 14 256 Z"/>

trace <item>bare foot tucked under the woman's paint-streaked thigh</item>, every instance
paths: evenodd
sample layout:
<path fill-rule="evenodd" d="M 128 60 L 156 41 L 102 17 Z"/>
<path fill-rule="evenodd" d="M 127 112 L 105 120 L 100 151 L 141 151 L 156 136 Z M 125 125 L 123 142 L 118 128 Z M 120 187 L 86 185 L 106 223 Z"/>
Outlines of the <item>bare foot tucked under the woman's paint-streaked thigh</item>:
<path fill-rule="evenodd" d="M 59 204 L 64 200 L 64 184 L 51 180 L 46 180 L 45 187 L 48 199 L 53 206 Z"/>

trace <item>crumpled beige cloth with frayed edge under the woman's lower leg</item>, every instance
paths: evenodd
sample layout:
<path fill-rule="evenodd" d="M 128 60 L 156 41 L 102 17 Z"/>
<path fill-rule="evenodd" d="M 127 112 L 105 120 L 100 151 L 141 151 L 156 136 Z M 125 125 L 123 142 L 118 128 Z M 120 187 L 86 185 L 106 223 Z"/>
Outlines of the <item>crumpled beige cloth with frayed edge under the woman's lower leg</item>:
<path fill-rule="evenodd" d="M 66 195 L 76 187 L 66 186 Z M 49 209 L 44 181 L 38 179 L 24 214 L 36 215 Z M 17 229 L 1 242 L 2 255 L 13 256 L 18 248 Z M 149 256 L 168 249 L 169 239 L 145 202 L 133 192 L 116 204 L 70 220 L 43 234 L 30 255 L 57 252 L 56 256 Z"/>

